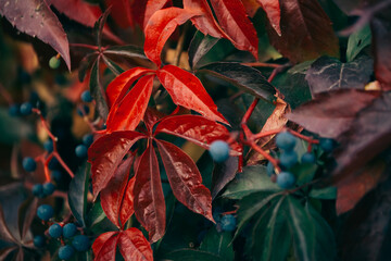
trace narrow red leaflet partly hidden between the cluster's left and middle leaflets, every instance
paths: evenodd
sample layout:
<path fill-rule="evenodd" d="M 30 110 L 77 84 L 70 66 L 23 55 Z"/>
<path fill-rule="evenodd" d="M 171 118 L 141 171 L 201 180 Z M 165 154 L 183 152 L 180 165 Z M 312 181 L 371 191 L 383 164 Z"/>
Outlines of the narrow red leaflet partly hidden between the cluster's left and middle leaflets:
<path fill-rule="evenodd" d="M 121 227 L 118 216 L 119 211 L 122 211 L 122 200 L 129 178 L 133 160 L 134 157 L 130 156 L 118 165 L 113 177 L 110 179 L 108 186 L 102 189 L 100 196 L 104 213 L 117 227 Z M 124 225 L 123 223 L 121 224 Z"/>

